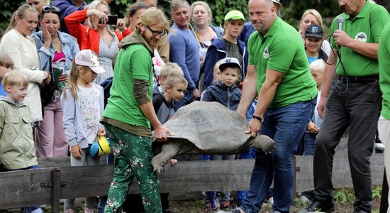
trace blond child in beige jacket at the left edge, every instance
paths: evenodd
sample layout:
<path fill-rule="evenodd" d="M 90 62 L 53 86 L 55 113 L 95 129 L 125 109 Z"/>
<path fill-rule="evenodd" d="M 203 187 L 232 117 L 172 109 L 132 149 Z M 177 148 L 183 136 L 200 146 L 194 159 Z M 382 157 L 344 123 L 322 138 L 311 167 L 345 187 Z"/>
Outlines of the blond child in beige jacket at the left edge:
<path fill-rule="evenodd" d="M 28 79 L 26 75 L 13 70 L 4 75 L 1 83 L 7 95 L 0 97 L 0 170 L 38 168 L 30 109 L 23 104 Z M 43 210 L 40 207 L 26 207 L 22 212 L 40 213 Z"/>

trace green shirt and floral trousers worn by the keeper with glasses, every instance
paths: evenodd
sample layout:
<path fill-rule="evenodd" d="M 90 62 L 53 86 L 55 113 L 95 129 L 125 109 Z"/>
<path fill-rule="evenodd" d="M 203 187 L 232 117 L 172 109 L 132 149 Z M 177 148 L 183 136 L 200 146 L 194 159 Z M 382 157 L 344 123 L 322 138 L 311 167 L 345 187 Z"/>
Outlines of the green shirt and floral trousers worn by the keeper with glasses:
<path fill-rule="evenodd" d="M 160 182 L 153 172 L 150 123 L 140 110 L 136 98 L 140 86 L 149 86 L 152 99 L 152 49 L 139 33 L 123 38 L 116 58 L 111 96 L 101 121 L 109 135 L 115 170 L 108 192 L 105 212 L 113 212 L 123 204 L 134 175 L 138 180 L 145 212 L 162 212 Z M 140 85 L 143 84 L 143 85 Z M 147 98 L 141 100 L 147 102 Z"/>

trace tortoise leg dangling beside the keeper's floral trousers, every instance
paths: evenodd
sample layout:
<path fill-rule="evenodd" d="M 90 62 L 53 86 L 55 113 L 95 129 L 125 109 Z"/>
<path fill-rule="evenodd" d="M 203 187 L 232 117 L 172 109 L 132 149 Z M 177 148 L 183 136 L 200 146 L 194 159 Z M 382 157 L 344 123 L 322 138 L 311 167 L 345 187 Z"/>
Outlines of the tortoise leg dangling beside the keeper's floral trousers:
<path fill-rule="evenodd" d="M 168 161 L 171 160 L 175 155 L 177 155 L 180 150 L 179 143 L 172 143 L 172 142 L 161 142 L 161 143 L 163 143 L 161 153 L 155 155 L 155 157 L 152 158 L 153 170 L 157 171 L 157 173 L 164 173 L 164 165 L 168 163 Z"/>

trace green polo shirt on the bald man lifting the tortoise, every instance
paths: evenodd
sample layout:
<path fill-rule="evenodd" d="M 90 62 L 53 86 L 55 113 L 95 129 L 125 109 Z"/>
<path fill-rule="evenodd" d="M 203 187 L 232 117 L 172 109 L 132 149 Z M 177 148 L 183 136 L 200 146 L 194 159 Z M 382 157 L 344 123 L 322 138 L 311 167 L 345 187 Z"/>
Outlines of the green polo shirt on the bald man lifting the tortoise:
<path fill-rule="evenodd" d="M 311 77 L 305 48 L 295 28 L 277 17 L 264 36 L 257 31 L 252 33 L 247 46 L 249 64 L 257 69 L 257 93 L 264 84 L 267 68 L 284 73 L 269 108 L 316 97 L 316 82 Z"/>

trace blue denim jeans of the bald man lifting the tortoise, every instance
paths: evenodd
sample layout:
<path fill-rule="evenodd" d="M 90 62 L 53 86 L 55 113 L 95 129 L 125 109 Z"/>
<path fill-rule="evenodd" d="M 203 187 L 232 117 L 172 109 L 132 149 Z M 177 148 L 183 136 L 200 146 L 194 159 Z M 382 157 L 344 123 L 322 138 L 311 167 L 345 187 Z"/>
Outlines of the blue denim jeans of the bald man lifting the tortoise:
<path fill-rule="evenodd" d="M 272 181 L 274 181 L 272 209 L 278 212 L 289 212 L 294 181 L 292 158 L 313 115 L 316 100 L 317 98 L 314 98 L 308 102 L 267 109 L 265 112 L 260 134 L 273 138 L 276 148 L 269 155 L 256 150 L 250 190 L 247 192 L 247 199 L 240 207 L 244 212 L 260 211 Z"/>

